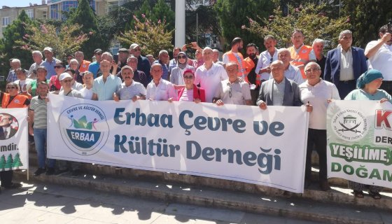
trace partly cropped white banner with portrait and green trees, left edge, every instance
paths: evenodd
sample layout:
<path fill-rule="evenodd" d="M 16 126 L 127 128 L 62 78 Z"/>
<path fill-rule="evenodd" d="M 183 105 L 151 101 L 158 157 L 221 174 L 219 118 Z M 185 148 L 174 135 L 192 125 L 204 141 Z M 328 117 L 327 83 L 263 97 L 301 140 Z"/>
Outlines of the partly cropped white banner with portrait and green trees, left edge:
<path fill-rule="evenodd" d="M 27 108 L 0 109 L 0 171 L 27 169 Z"/>

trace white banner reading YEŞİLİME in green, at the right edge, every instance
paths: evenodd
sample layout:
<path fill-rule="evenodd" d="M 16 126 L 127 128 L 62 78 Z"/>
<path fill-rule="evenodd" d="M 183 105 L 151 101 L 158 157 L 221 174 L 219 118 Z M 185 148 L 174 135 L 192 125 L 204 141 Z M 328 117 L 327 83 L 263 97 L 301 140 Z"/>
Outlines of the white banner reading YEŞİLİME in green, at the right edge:
<path fill-rule="evenodd" d="M 328 177 L 392 188 L 392 104 L 334 101 L 327 113 Z"/>

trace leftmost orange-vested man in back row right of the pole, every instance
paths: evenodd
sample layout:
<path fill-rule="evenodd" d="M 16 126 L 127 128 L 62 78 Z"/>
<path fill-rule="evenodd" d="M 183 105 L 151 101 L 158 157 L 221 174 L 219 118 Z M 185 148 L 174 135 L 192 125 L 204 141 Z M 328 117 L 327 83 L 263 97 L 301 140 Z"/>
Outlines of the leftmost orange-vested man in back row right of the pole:
<path fill-rule="evenodd" d="M 246 73 L 246 64 L 244 63 L 244 56 L 241 54 L 241 50 L 243 48 L 244 42 L 241 38 L 236 37 L 232 40 L 232 50 L 225 52 L 223 55 L 223 63 L 228 64 L 228 62 L 236 62 L 238 64 L 238 76 L 245 78 Z"/>

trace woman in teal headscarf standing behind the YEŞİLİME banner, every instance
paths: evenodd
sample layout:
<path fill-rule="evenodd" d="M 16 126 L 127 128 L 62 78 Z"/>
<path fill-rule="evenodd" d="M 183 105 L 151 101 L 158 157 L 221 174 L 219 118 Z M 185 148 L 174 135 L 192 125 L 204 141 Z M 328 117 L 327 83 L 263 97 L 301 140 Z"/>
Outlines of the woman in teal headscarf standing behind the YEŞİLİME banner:
<path fill-rule="evenodd" d="M 386 101 L 392 103 L 392 97 L 385 90 L 379 90 L 382 84 L 383 76 L 380 71 L 370 69 L 363 73 L 356 81 L 356 90 L 351 91 L 344 99 L 346 100 L 379 100 L 380 103 Z M 363 188 L 366 186 L 362 183 L 349 181 L 350 188 L 354 191 L 355 197 L 363 197 Z M 374 199 L 380 199 L 381 187 L 368 186 L 369 195 Z"/>

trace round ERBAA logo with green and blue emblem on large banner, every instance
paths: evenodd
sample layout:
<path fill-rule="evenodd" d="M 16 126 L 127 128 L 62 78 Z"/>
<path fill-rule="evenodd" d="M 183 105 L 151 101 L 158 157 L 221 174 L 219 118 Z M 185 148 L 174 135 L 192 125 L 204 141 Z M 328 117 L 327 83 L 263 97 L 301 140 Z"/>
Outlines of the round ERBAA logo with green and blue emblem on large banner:
<path fill-rule="evenodd" d="M 66 146 L 79 155 L 97 153 L 109 136 L 104 111 L 92 104 L 76 104 L 62 111 L 59 130 Z"/>

